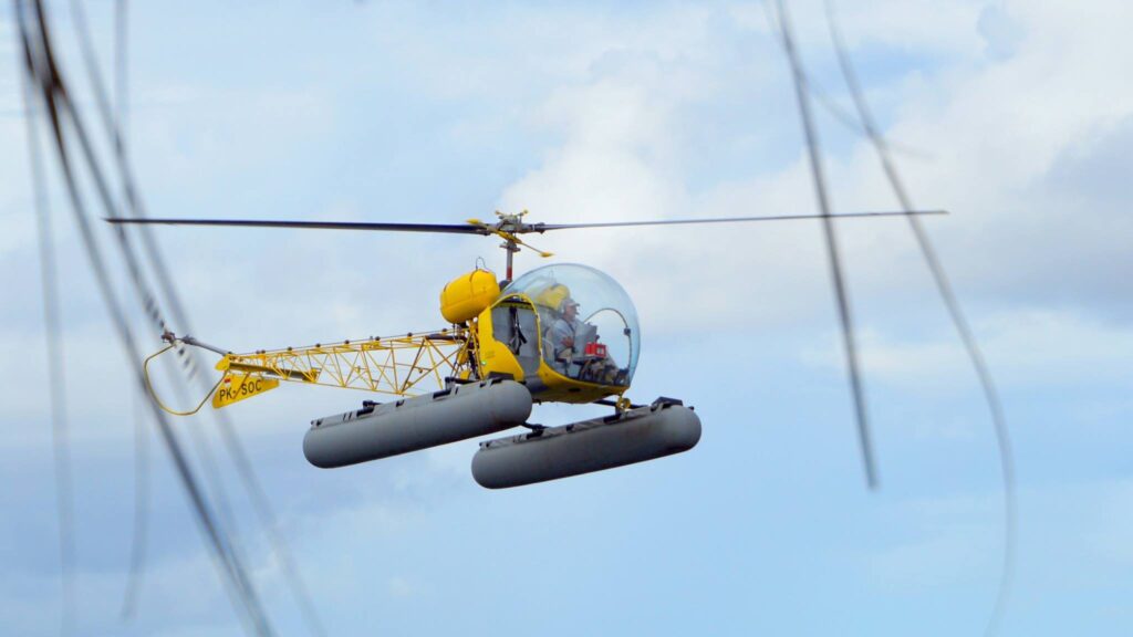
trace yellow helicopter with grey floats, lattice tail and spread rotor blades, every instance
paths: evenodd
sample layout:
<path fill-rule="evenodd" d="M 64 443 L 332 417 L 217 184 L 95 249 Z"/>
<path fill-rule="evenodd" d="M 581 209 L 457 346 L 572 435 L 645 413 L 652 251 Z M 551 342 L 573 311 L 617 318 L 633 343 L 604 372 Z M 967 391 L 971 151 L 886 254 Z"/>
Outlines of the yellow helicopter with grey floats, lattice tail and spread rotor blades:
<path fill-rule="evenodd" d="M 368 337 L 307 347 L 236 354 L 191 336 L 162 334 L 168 346 L 144 362 L 152 398 L 174 415 L 191 415 L 210 397 L 220 409 L 271 391 L 280 382 L 321 384 L 394 397 L 364 400 L 361 408 L 316 418 L 304 436 L 304 455 L 334 468 L 526 427 L 528 432 L 479 443 L 474 479 L 487 489 L 529 485 L 654 460 L 688 451 L 701 435 L 693 407 L 658 397 L 632 402 L 641 350 L 637 311 L 608 274 L 588 265 L 555 263 L 514 277 L 522 248 L 554 256 L 521 236 L 568 229 L 742 223 L 821 219 L 818 214 L 675 219 L 597 223 L 529 223 L 528 211 L 496 211 L 497 221 L 462 224 L 116 218 L 116 224 L 295 228 L 477 235 L 503 239 L 505 277 L 477 264 L 450 280 L 440 295 L 448 328 L 393 337 Z M 846 212 L 833 218 L 946 214 L 945 211 Z M 196 408 L 167 407 L 148 382 L 148 366 L 184 346 L 211 350 L 220 379 Z M 559 426 L 528 423 L 534 405 L 597 404 L 613 414 Z"/>

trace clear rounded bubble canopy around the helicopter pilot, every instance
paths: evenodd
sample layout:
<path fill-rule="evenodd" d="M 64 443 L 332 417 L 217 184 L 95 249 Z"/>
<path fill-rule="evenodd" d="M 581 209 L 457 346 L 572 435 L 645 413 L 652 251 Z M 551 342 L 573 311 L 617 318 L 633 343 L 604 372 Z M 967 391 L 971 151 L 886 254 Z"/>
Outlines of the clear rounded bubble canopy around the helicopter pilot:
<path fill-rule="evenodd" d="M 605 356 L 619 367 L 617 384 L 629 385 L 641 350 L 637 309 L 617 281 L 599 270 L 578 263 L 545 265 L 516 279 L 501 294 L 522 294 L 539 313 L 543 358 L 568 376 L 563 366 L 563 334 L 578 336 L 576 353 L 588 343 L 605 346 Z M 577 304 L 577 309 L 569 306 Z M 573 339 L 571 339 L 573 340 Z M 593 351 L 593 348 L 590 348 Z M 599 350 L 600 351 L 600 350 Z"/>

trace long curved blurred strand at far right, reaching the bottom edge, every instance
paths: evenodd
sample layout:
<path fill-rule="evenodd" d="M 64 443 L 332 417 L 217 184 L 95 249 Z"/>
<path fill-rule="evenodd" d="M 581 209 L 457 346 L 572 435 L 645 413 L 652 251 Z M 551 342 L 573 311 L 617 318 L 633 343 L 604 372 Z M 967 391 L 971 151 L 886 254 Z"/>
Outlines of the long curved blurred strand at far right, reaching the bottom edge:
<path fill-rule="evenodd" d="M 897 168 L 893 163 L 893 158 L 889 155 L 889 148 L 885 142 L 885 137 L 881 135 L 876 122 L 874 121 L 874 117 L 869 110 L 869 104 L 866 102 L 864 94 L 858 83 L 858 75 L 854 71 L 853 62 L 846 52 L 845 42 L 842 40 L 842 33 L 837 27 L 837 20 L 834 16 L 834 5 L 832 0 L 826 0 L 826 17 L 829 25 L 830 40 L 834 42 L 834 48 L 837 50 L 838 63 L 842 67 L 842 76 L 845 78 L 846 86 L 853 95 L 854 107 L 858 110 L 858 117 L 861 118 L 862 127 L 869 134 L 874 148 L 877 151 L 877 156 L 881 162 L 881 168 L 885 170 L 885 176 L 888 178 L 889 185 L 893 187 L 893 193 L 896 195 L 901 206 L 905 210 L 913 210 L 912 197 L 909 196 L 909 192 L 905 189 L 904 184 L 901 180 L 901 176 L 897 173 Z M 1007 609 L 1007 598 L 1011 593 L 1015 570 L 1015 534 L 1017 529 L 1017 520 L 1015 518 L 1015 460 L 1014 455 L 1012 453 L 1011 435 L 1007 430 L 1007 421 L 1004 417 L 1003 404 L 999 401 L 999 393 L 996 390 L 995 381 L 991 377 L 991 372 L 987 366 L 987 362 L 985 360 L 983 354 L 979 348 L 979 343 L 976 341 L 976 336 L 973 334 L 971 326 L 968 324 L 968 318 L 964 316 L 964 312 L 960 306 L 960 300 L 956 298 L 956 294 L 952 288 L 952 283 L 948 280 L 948 274 L 944 269 L 944 264 L 940 262 L 940 257 L 936 254 L 936 249 L 932 247 L 928 232 L 925 230 L 920 220 L 917 219 L 915 215 L 910 215 L 909 224 L 912 228 L 913 235 L 917 237 L 917 243 L 920 245 L 921 253 L 925 255 L 925 262 L 928 264 L 929 271 L 932 273 L 932 279 L 936 281 L 936 287 L 940 292 L 940 298 L 944 300 L 945 307 L 948 308 L 948 314 L 952 316 L 952 322 L 956 326 L 956 332 L 960 333 L 960 340 L 963 341 L 964 349 L 968 350 L 968 357 L 972 362 L 976 375 L 980 380 L 980 385 L 983 389 L 983 398 L 987 401 L 988 411 L 991 414 L 996 443 L 999 449 L 999 466 L 1003 474 L 1004 492 L 1003 566 L 999 574 L 999 591 L 996 595 L 995 606 L 993 608 L 991 617 L 988 619 L 988 623 L 983 631 L 985 635 L 995 635 L 999 629 L 1003 615 Z"/>

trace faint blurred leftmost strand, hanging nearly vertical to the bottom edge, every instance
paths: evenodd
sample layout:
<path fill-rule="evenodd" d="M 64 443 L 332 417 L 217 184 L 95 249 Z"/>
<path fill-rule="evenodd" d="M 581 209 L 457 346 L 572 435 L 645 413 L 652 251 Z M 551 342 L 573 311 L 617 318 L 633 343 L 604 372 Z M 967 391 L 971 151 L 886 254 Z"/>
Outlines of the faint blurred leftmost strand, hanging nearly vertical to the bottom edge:
<path fill-rule="evenodd" d="M 22 74 L 24 105 L 31 112 L 31 78 Z M 51 206 L 43 179 L 43 156 L 35 120 L 27 118 L 28 165 L 32 171 L 36 229 L 40 239 L 40 284 L 43 290 L 43 325 L 48 349 L 48 396 L 51 401 L 51 439 L 56 474 L 56 506 L 59 516 L 59 566 L 62 574 L 62 608 L 59 614 L 60 635 L 73 635 L 78 623 L 75 588 L 75 495 L 71 477 L 70 425 L 67 415 L 67 383 L 63 376 L 62 330 L 59 318 L 59 274 L 54 238 L 51 230 Z"/>

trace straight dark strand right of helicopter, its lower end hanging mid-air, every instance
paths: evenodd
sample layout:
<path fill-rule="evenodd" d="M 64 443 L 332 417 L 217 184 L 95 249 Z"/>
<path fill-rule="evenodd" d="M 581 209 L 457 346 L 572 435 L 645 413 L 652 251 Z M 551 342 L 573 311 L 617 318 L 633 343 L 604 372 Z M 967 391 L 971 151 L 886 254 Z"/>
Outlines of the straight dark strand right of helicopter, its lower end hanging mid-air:
<path fill-rule="evenodd" d="M 830 278 L 834 281 L 834 295 L 837 300 L 838 321 L 842 326 L 842 340 L 845 345 L 846 366 L 850 371 L 850 391 L 853 394 L 854 416 L 858 423 L 858 441 L 861 444 L 862 462 L 866 466 L 866 484 L 877 489 L 877 469 L 874 465 L 874 447 L 869 435 L 869 419 L 866 413 L 866 397 L 858 366 L 858 346 L 854 340 L 853 315 L 850 312 L 850 298 L 842 277 L 842 258 L 838 255 L 837 235 L 830 218 L 830 204 L 826 193 L 826 179 L 823 175 L 821 155 L 818 148 L 818 135 L 810 113 L 810 102 L 807 97 L 803 80 L 802 63 L 794 49 L 794 37 L 791 32 L 791 20 L 783 0 L 777 0 L 780 33 L 783 36 L 783 49 L 791 62 L 794 92 L 799 101 L 799 114 L 802 129 L 807 137 L 807 153 L 810 158 L 810 173 L 815 180 L 815 195 L 823 213 L 823 229 L 826 238 L 826 254 L 830 264 Z"/>

